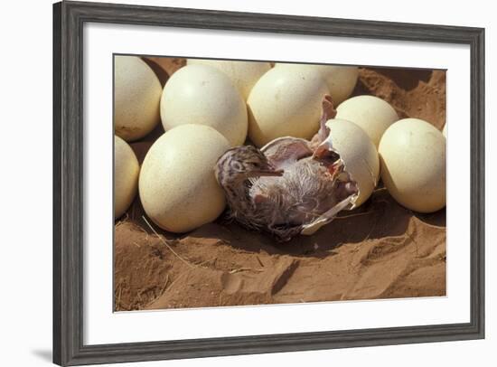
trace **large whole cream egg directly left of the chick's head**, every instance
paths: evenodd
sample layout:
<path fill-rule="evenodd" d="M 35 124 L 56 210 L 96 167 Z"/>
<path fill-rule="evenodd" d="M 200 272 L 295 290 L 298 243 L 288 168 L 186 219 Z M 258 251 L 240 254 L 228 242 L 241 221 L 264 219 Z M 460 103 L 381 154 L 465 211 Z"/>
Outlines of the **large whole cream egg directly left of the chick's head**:
<path fill-rule="evenodd" d="M 140 173 L 146 215 L 176 233 L 214 221 L 224 210 L 225 197 L 213 167 L 229 148 L 226 137 L 204 125 L 174 127 L 159 137 Z"/>

